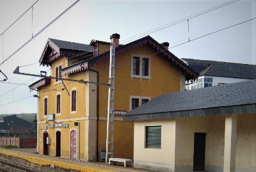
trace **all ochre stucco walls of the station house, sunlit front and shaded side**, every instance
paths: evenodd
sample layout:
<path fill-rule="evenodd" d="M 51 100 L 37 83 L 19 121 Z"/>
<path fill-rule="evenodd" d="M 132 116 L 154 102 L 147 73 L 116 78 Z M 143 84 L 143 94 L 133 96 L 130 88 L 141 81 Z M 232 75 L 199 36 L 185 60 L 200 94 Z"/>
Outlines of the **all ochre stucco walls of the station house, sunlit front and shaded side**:
<path fill-rule="evenodd" d="M 103 53 L 106 48 L 100 49 Z M 154 50 L 148 45 L 133 48 L 122 54 L 117 54 L 115 58 L 115 110 L 130 111 L 130 96 L 150 97 L 152 100 L 158 95 L 174 93 L 184 88 L 183 81 L 185 76 L 171 63 L 154 54 Z M 133 54 L 140 54 L 150 57 L 150 79 L 132 78 L 132 57 Z M 60 58 L 52 62 L 51 75 L 55 76 L 55 66 L 62 64 L 65 68 L 66 58 Z M 99 72 L 99 82 L 108 83 L 109 81 L 109 58 L 98 59 L 89 63 L 89 68 Z M 98 74 L 90 70 L 83 70 L 75 74 L 66 75 L 64 78 L 84 81 L 97 82 Z M 38 91 L 38 152 L 43 153 L 43 132 L 47 126 L 51 145 L 49 145 L 49 155 L 55 155 L 56 131 L 61 132 L 61 157 L 70 157 L 70 132 L 74 128 L 78 132 L 78 127 L 74 126 L 74 121 L 81 123 L 81 159 L 98 160 L 100 158 L 100 148 L 106 150 L 106 120 L 108 110 L 108 87 L 99 85 L 99 126 L 97 127 L 97 85 L 81 84 L 78 82 L 64 81 L 69 93 L 76 88 L 77 90 L 77 112 L 70 111 L 70 97 L 63 84 L 54 83 L 40 88 Z M 57 114 L 55 122 L 68 124 L 68 128 L 49 129 L 49 125 L 54 125 L 52 121 L 45 123 L 44 116 L 44 97 L 48 97 L 48 113 L 56 114 L 56 94 L 61 94 L 61 114 Z M 132 121 L 122 121 L 122 116 L 116 116 L 114 122 L 114 157 L 133 159 L 133 137 L 134 123 Z M 98 129 L 98 130 L 97 130 Z M 97 137 L 98 134 L 98 137 Z M 97 148 L 98 139 L 98 148 Z M 77 146 L 78 148 L 78 146 Z M 98 152 L 97 152 L 98 150 Z M 77 150 L 78 152 L 78 150 Z M 98 154 L 97 154 L 98 153 Z"/>

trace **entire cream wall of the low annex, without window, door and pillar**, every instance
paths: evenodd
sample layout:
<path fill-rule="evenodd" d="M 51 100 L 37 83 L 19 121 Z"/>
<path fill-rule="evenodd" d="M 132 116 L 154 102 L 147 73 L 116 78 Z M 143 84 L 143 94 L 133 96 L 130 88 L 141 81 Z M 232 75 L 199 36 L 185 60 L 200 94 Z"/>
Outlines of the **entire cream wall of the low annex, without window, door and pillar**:
<path fill-rule="evenodd" d="M 162 126 L 161 149 L 145 148 L 145 127 Z M 256 114 L 237 117 L 236 172 L 256 172 Z M 205 170 L 223 171 L 225 116 L 136 121 L 134 167 L 157 171 L 192 172 L 195 132 L 206 133 Z"/>

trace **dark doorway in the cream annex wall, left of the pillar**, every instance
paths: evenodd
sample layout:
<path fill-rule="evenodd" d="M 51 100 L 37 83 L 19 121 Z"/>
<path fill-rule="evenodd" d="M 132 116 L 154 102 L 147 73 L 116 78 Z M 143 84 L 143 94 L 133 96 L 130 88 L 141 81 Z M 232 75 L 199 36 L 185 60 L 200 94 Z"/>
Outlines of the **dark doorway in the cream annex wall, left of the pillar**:
<path fill-rule="evenodd" d="M 205 166 L 205 133 L 195 132 L 194 171 L 204 171 Z"/>

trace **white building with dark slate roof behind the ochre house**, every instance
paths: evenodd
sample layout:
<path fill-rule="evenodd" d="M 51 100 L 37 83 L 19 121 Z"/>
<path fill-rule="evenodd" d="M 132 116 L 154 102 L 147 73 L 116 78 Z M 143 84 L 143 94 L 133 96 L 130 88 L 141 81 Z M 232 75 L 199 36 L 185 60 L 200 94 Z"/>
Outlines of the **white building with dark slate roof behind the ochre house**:
<path fill-rule="evenodd" d="M 256 79 L 256 65 L 187 58 L 181 60 L 199 74 L 197 80 L 186 81 L 186 90 Z"/>

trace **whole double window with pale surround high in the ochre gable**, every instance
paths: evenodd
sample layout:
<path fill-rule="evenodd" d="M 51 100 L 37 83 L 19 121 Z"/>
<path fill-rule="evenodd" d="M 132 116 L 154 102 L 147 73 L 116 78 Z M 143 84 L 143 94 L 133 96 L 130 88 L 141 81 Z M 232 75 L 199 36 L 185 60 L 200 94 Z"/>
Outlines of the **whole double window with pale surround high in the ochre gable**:
<path fill-rule="evenodd" d="M 150 80 L 150 59 L 150 56 L 132 54 L 131 78 Z"/>

